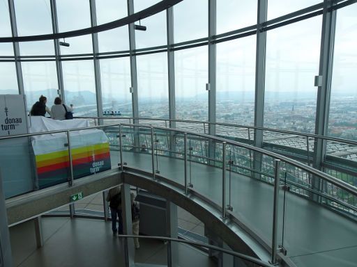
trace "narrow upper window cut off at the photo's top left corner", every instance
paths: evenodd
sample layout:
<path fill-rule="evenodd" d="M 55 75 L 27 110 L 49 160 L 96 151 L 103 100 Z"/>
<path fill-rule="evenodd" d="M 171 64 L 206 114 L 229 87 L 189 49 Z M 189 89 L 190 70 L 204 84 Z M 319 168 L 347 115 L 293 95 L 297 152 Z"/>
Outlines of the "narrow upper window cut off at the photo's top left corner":
<path fill-rule="evenodd" d="M 8 36 L 12 35 L 10 16 L 8 14 L 8 1 L 0 1 L 0 35 Z M 13 43 L 1 42 L 0 43 L 0 56 L 13 56 Z"/>

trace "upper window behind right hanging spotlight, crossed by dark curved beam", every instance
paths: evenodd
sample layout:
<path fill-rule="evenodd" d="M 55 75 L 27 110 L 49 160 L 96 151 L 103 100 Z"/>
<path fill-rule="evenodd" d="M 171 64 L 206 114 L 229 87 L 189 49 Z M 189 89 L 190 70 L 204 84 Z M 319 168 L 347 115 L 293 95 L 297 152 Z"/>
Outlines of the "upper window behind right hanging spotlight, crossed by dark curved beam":
<path fill-rule="evenodd" d="M 143 10 L 157 2 L 157 0 L 135 0 L 134 12 L 139 12 L 139 10 Z M 167 44 L 166 11 L 142 19 L 140 22 L 135 22 L 135 24 L 146 26 L 146 31 L 135 31 L 135 46 L 137 49 Z"/>

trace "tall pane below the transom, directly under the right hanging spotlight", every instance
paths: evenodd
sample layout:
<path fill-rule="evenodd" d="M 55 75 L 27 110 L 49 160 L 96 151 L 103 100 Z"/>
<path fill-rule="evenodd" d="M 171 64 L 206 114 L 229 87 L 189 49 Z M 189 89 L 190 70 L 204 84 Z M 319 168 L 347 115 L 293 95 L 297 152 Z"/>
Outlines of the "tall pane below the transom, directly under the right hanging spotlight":
<path fill-rule="evenodd" d="M 169 118 L 167 53 L 137 56 L 139 117 Z"/>

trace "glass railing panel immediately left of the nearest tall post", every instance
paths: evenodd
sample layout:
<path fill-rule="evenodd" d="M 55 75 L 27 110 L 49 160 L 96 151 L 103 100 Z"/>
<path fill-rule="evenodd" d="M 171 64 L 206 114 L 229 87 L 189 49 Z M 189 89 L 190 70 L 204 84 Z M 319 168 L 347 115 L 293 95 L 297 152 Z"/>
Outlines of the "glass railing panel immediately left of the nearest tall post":
<path fill-rule="evenodd" d="M 271 243 L 273 159 L 250 149 L 227 145 L 226 161 L 227 210 L 261 240 Z"/>

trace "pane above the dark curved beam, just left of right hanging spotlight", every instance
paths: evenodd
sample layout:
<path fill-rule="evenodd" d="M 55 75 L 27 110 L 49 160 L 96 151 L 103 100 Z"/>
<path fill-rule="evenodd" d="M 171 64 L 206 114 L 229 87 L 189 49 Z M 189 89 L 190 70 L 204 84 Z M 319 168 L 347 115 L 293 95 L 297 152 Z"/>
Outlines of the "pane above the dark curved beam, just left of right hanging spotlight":
<path fill-rule="evenodd" d="M 128 16 L 126 0 L 100 0 L 96 1 L 97 25 L 112 22 Z"/>

